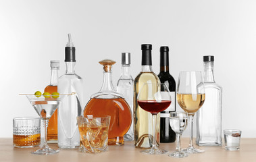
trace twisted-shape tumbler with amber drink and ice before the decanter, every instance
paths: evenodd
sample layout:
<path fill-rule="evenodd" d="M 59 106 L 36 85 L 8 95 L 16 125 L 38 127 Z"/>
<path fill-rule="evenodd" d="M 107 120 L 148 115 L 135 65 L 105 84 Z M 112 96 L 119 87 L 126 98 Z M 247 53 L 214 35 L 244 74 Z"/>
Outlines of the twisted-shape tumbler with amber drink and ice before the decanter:
<path fill-rule="evenodd" d="M 88 117 L 79 116 L 76 118 L 80 133 L 80 152 L 102 153 L 107 151 L 110 116 Z"/>

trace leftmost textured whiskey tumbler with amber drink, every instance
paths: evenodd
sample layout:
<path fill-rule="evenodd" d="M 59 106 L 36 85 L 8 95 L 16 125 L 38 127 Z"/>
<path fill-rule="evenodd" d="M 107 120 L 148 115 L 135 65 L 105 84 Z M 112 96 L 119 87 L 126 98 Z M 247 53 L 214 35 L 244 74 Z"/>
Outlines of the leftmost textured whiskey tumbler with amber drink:
<path fill-rule="evenodd" d="M 41 120 L 39 117 L 15 117 L 13 119 L 13 145 L 19 148 L 39 146 Z"/>

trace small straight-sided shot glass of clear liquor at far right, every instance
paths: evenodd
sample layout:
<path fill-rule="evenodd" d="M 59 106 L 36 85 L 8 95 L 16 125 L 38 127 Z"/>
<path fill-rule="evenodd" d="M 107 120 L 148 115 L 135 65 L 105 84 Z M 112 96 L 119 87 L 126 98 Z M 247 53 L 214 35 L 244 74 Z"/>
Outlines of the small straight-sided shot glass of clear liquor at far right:
<path fill-rule="evenodd" d="M 240 130 L 224 130 L 225 149 L 238 151 L 240 149 Z"/>

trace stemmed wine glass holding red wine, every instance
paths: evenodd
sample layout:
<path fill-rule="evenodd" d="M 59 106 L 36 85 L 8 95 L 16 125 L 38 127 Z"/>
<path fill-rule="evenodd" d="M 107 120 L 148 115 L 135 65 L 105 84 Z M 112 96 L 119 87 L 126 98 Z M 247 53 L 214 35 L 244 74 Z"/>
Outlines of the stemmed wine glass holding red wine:
<path fill-rule="evenodd" d="M 155 134 L 157 126 L 157 113 L 167 109 L 172 102 L 168 86 L 164 83 L 145 83 L 138 92 L 138 105 L 152 114 L 153 122 L 153 145 L 151 149 L 141 151 L 141 153 L 158 155 L 164 154 L 168 151 L 161 150 L 157 147 Z"/>

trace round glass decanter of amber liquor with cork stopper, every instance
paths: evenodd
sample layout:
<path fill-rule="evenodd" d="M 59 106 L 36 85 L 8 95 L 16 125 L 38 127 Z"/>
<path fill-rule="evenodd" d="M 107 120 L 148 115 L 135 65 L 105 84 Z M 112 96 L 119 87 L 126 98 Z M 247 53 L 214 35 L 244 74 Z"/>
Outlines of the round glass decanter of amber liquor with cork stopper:
<path fill-rule="evenodd" d="M 111 80 L 111 66 L 115 61 L 104 59 L 99 61 L 103 65 L 103 84 L 101 90 L 91 96 L 84 108 L 84 117 L 93 115 L 93 117 L 111 116 L 109 124 L 108 144 L 124 144 L 124 134 L 129 130 L 132 122 L 132 116 L 128 103 L 124 100 L 122 94 L 115 92 Z"/>

